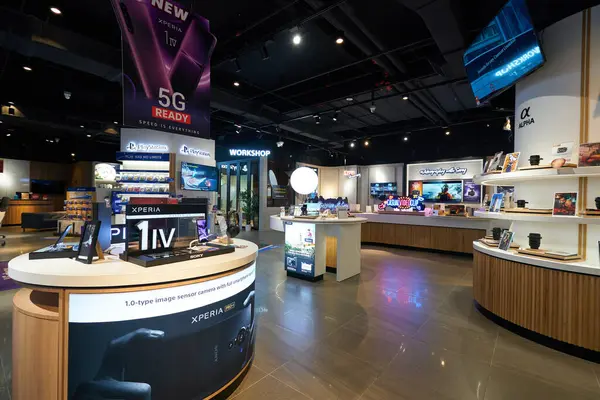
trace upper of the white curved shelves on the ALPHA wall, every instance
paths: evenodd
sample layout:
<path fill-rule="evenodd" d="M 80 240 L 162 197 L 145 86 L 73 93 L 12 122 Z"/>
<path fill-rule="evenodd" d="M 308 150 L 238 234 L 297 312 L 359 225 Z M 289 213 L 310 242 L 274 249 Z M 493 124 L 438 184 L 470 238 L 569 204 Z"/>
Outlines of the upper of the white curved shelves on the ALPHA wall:
<path fill-rule="evenodd" d="M 600 167 L 530 169 L 502 174 L 482 174 L 474 176 L 473 181 L 479 185 L 511 185 L 539 179 L 582 177 L 600 177 Z"/>

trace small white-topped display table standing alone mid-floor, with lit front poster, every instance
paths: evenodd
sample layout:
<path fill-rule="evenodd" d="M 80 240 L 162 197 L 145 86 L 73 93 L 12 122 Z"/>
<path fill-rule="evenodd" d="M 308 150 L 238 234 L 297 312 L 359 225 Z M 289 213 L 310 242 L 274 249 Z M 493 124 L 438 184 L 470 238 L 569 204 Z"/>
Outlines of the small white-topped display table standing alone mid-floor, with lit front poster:
<path fill-rule="evenodd" d="M 300 219 L 294 217 L 271 216 L 271 228 L 286 232 L 285 264 L 288 273 L 297 267 L 296 273 L 308 278 L 320 279 L 325 271 L 334 272 L 338 282 L 360 274 L 360 236 L 361 224 L 364 218 L 317 218 Z M 312 229 L 314 236 L 314 255 L 303 257 L 288 254 L 289 241 L 296 238 L 289 231 L 290 226 L 298 225 L 308 230 Z M 292 235 L 292 238 L 290 238 Z M 289 264 L 290 258 L 294 265 Z M 307 258 L 305 260 L 305 258 Z M 312 264 L 302 271 L 302 265 Z"/>

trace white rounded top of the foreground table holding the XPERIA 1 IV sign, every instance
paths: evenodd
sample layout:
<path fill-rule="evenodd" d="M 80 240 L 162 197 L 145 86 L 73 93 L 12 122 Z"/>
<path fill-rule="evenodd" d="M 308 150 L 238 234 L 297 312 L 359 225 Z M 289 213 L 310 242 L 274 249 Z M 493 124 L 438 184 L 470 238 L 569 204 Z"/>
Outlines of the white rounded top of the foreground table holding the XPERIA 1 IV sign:
<path fill-rule="evenodd" d="M 24 284 L 60 288 L 155 285 L 219 274 L 256 260 L 258 246 L 240 239 L 234 239 L 234 243 L 248 247 L 229 254 L 150 268 L 111 255 L 93 264 L 83 264 L 68 258 L 29 260 L 29 254 L 23 254 L 8 263 L 8 276 Z"/>

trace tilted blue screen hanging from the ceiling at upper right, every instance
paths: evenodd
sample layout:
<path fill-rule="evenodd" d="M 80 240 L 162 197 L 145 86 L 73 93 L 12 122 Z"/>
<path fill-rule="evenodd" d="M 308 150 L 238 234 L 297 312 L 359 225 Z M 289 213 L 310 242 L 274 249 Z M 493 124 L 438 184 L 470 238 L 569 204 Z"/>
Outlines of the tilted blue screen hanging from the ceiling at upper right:
<path fill-rule="evenodd" d="M 544 64 L 525 0 L 510 0 L 463 55 L 477 105 Z"/>

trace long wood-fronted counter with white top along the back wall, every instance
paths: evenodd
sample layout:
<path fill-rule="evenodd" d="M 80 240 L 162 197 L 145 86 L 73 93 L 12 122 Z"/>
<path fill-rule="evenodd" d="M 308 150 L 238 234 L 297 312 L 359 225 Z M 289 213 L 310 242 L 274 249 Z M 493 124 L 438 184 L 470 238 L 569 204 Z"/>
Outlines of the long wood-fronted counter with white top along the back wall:
<path fill-rule="evenodd" d="M 473 253 L 473 241 L 486 235 L 490 221 L 458 216 L 360 213 L 367 220 L 362 229 L 362 242 L 421 249 Z"/>

